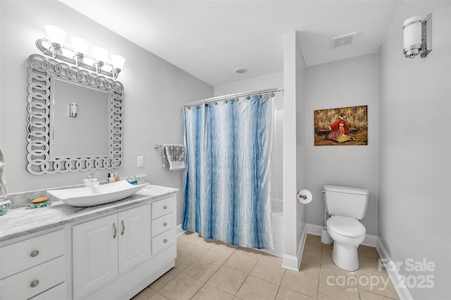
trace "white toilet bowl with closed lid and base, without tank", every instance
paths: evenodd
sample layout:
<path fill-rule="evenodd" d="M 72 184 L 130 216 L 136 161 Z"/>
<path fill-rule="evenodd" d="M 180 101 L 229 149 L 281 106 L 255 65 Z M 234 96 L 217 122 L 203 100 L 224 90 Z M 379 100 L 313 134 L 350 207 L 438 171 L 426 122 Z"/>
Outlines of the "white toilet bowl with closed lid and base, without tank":
<path fill-rule="evenodd" d="M 333 215 L 327 220 L 327 231 L 333 239 L 332 260 L 335 265 L 347 271 L 357 270 L 357 247 L 365 239 L 364 225 L 354 218 Z"/>

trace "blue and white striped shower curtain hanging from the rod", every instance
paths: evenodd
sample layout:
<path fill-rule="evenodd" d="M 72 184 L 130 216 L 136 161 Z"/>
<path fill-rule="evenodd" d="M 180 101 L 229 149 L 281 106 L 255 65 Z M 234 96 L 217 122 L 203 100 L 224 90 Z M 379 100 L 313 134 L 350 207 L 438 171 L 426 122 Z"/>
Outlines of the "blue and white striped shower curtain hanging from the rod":
<path fill-rule="evenodd" d="M 274 248 L 271 96 L 184 108 L 184 230 L 228 244 Z"/>

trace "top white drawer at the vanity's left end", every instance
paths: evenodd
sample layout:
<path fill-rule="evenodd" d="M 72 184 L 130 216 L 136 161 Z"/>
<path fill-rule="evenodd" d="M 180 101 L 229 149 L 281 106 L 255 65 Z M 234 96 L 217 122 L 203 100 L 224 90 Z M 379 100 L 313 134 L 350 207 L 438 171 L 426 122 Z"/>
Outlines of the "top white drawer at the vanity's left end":
<path fill-rule="evenodd" d="M 64 230 L 0 248 L 0 279 L 64 254 Z"/>

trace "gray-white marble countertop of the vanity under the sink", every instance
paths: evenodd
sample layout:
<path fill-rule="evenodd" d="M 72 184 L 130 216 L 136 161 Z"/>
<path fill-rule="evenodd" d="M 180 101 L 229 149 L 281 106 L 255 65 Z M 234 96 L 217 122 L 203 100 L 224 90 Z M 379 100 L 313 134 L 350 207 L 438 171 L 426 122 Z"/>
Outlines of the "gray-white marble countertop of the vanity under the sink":
<path fill-rule="evenodd" d="M 132 196 L 109 204 L 75 207 L 64 204 L 62 201 L 54 201 L 51 206 L 43 208 L 11 209 L 6 215 L 0 216 L 0 242 L 91 218 L 94 215 L 117 211 L 161 196 L 175 194 L 177 191 L 178 189 L 173 187 L 147 185 Z"/>

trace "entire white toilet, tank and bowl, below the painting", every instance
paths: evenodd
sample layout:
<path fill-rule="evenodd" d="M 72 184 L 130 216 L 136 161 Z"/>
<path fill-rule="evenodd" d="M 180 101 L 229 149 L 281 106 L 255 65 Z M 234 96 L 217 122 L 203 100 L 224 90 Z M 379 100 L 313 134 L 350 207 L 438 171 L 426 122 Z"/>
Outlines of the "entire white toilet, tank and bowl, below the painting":
<path fill-rule="evenodd" d="M 330 218 L 326 221 L 327 232 L 333 239 L 332 259 L 343 270 L 359 268 L 357 247 L 365 239 L 364 218 L 368 206 L 368 190 L 354 187 L 324 185 L 324 204 Z"/>

